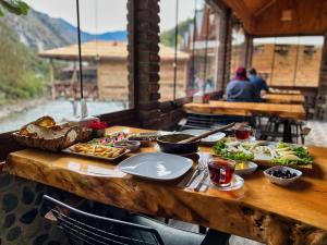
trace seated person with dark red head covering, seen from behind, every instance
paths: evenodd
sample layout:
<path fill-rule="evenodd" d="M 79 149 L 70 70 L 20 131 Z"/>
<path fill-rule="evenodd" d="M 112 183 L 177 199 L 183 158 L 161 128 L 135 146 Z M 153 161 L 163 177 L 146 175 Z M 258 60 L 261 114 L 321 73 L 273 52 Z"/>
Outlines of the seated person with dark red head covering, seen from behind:
<path fill-rule="evenodd" d="M 254 102 L 257 101 L 255 86 L 250 83 L 245 68 L 239 68 L 235 77 L 226 88 L 227 101 Z"/>

